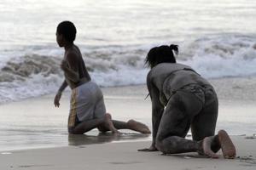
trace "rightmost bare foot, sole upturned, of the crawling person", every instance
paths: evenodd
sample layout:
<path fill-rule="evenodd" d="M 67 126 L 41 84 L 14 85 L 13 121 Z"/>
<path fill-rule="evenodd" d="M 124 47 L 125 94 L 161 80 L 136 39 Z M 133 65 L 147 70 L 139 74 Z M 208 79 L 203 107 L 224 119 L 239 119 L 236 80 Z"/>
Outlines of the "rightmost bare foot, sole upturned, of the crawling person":
<path fill-rule="evenodd" d="M 218 140 L 221 145 L 224 158 L 234 159 L 236 157 L 236 147 L 232 143 L 228 133 L 224 130 L 218 131 Z"/>

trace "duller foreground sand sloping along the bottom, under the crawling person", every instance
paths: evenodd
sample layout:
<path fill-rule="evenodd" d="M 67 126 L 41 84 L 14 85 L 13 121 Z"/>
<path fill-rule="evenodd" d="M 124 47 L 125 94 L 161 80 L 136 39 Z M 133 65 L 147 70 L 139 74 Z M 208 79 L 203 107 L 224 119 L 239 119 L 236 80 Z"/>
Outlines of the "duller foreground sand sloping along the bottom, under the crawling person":
<path fill-rule="evenodd" d="M 138 152 L 150 142 L 78 145 L 51 149 L 2 152 L 0 168 L 9 169 L 255 169 L 256 139 L 233 136 L 236 159 L 203 158 L 195 153 L 163 156 L 160 152 Z"/>

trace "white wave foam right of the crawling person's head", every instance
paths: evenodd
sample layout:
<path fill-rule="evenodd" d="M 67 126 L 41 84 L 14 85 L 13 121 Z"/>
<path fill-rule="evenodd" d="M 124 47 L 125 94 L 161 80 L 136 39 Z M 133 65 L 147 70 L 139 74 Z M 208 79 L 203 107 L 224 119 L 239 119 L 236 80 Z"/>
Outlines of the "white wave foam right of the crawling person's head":
<path fill-rule="evenodd" d="M 201 38 L 183 44 L 183 63 L 207 78 L 255 76 L 255 42 L 255 37 L 241 35 Z"/>

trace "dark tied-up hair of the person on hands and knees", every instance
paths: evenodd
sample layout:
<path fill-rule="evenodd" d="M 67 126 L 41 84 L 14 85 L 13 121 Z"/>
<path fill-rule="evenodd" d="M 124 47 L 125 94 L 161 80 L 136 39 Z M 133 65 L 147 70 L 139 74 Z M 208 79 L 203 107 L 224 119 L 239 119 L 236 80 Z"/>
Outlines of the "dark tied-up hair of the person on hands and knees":
<path fill-rule="evenodd" d="M 162 45 L 160 47 L 151 48 L 145 59 L 145 65 L 153 68 L 155 65 L 158 65 L 160 63 L 176 63 L 173 51 L 176 54 L 178 53 L 177 45 Z"/>

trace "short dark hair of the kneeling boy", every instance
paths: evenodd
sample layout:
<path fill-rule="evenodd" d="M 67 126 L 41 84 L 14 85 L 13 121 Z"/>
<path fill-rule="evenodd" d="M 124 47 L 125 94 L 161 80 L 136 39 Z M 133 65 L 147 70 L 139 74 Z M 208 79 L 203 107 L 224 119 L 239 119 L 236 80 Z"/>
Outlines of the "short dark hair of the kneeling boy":
<path fill-rule="evenodd" d="M 63 35 L 68 42 L 73 42 L 76 39 L 77 29 L 72 22 L 65 20 L 57 26 L 58 34 Z"/>

